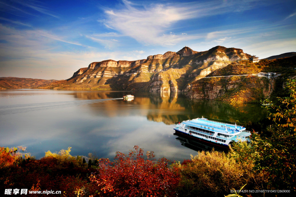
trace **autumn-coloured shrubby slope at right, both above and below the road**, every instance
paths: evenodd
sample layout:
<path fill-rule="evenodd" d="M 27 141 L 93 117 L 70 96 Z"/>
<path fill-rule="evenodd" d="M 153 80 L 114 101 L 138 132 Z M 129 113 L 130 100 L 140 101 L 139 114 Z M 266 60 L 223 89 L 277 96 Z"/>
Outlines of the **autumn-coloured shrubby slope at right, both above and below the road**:
<path fill-rule="evenodd" d="M 259 103 L 260 100 L 284 95 L 283 84 L 296 76 L 296 56 L 289 58 L 232 62 L 217 69 L 207 78 L 192 82 L 187 96 L 193 99 L 216 99 L 230 104 Z M 271 78 L 257 76 L 259 72 L 274 72 Z M 246 75 L 246 76 L 236 76 Z M 274 77 L 274 76 L 277 77 Z M 224 76 L 224 77 L 218 77 Z"/>

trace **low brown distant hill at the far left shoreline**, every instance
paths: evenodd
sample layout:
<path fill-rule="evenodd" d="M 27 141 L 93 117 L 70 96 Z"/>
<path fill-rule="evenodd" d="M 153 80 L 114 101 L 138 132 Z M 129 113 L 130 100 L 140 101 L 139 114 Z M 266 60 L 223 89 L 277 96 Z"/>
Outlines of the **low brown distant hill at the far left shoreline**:
<path fill-rule="evenodd" d="M 27 89 L 44 86 L 57 80 L 30 79 L 18 77 L 0 77 L 0 89 Z"/>

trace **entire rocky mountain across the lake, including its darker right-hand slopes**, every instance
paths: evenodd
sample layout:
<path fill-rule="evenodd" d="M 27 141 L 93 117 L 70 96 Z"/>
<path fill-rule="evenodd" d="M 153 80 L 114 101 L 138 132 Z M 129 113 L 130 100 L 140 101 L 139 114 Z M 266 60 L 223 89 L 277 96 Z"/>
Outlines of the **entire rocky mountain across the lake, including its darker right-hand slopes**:
<path fill-rule="evenodd" d="M 256 63 L 252 57 L 238 48 L 216 46 L 198 52 L 184 47 L 136 61 L 92 62 L 67 80 L 39 88 L 184 92 L 190 99 L 231 104 L 284 95 L 285 79 L 296 76 L 296 56 Z"/>

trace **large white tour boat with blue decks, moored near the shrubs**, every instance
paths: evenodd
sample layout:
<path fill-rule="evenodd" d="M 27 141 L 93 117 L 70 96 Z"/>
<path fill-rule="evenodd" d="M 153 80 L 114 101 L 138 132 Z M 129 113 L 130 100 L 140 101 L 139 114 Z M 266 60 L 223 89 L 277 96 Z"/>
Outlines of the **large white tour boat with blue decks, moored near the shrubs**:
<path fill-rule="evenodd" d="M 243 126 L 196 118 L 179 122 L 174 128 L 176 133 L 215 145 L 228 146 L 231 141 L 247 141 L 250 131 Z"/>

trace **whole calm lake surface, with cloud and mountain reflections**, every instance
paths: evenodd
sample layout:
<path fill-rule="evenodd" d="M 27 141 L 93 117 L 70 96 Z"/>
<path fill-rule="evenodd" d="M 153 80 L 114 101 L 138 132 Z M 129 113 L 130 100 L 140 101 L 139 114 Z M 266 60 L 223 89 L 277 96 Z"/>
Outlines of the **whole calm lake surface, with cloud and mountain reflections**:
<path fill-rule="evenodd" d="M 135 99 L 118 99 L 126 94 L 135 95 Z M 193 103 L 182 95 L 0 90 L 0 146 L 27 146 L 27 152 L 36 158 L 48 150 L 59 152 L 71 146 L 72 155 L 93 153 L 112 159 L 116 151 L 128 153 L 139 145 L 144 151 L 154 151 L 156 158 L 183 161 L 197 152 L 182 146 L 173 135 L 179 121 L 203 116 L 251 124 L 266 115 L 259 105 Z"/>

